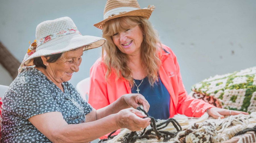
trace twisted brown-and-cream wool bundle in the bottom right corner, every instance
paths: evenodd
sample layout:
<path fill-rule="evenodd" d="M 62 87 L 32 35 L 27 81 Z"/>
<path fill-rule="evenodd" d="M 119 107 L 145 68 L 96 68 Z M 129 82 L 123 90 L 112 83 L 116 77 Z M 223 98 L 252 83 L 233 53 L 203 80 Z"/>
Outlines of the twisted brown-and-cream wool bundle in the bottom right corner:
<path fill-rule="evenodd" d="M 194 123 L 188 129 L 178 133 L 178 142 L 224 142 L 236 133 L 256 125 L 256 112 L 250 115 L 228 116 L 223 120 L 209 119 L 202 123 Z"/>

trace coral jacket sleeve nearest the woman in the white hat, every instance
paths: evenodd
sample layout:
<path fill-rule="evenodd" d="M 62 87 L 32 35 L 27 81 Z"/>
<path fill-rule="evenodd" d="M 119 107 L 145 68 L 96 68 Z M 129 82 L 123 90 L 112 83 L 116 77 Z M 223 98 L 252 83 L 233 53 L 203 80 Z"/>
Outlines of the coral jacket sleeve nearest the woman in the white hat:
<path fill-rule="evenodd" d="M 100 59 L 98 59 L 90 69 L 88 103 L 96 110 L 110 105 L 105 72 L 105 67 Z"/>

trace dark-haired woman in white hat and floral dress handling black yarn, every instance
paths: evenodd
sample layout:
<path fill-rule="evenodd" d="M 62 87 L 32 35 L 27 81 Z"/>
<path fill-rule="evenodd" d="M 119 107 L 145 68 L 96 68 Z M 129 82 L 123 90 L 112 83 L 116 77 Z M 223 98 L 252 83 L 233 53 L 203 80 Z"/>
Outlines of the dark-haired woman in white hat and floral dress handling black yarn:
<path fill-rule="evenodd" d="M 142 95 L 126 94 L 95 110 L 67 82 L 79 70 L 83 51 L 104 43 L 82 36 L 68 17 L 40 23 L 21 73 L 3 97 L 1 142 L 89 142 L 120 128 L 148 126 L 150 118 L 129 108 L 142 104 L 148 110 Z"/>

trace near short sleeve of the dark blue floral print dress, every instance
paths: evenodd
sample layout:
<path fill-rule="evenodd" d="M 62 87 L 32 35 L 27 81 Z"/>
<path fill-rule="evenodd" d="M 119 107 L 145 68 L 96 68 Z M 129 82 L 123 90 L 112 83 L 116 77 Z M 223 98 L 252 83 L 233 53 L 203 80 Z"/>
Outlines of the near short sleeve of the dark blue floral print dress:
<path fill-rule="evenodd" d="M 47 112 L 61 112 L 54 101 L 52 87 L 47 80 L 37 77 L 24 77 L 9 90 L 5 106 L 10 112 L 26 120 Z"/>

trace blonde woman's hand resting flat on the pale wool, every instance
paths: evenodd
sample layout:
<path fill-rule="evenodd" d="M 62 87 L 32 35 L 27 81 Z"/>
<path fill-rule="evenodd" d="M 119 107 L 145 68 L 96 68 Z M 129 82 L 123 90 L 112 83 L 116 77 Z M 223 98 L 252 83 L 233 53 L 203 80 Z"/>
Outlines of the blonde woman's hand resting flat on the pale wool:
<path fill-rule="evenodd" d="M 247 112 L 242 112 L 242 111 L 235 111 L 235 110 L 227 110 L 227 109 L 222 109 L 222 108 L 217 108 L 217 107 L 212 107 L 209 109 L 208 114 L 212 116 L 213 118 L 221 118 L 223 119 L 224 116 L 230 116 L 230 115 L 238 115 L 238 114 L 249 114 Z"/>

